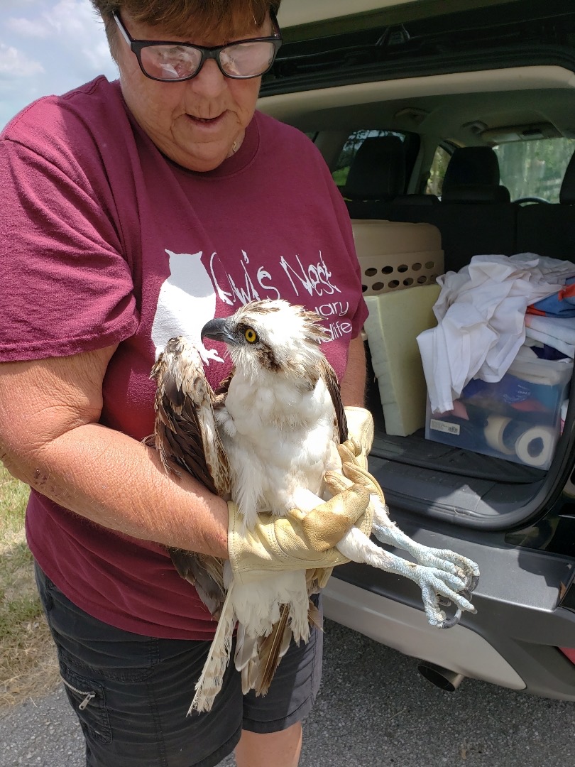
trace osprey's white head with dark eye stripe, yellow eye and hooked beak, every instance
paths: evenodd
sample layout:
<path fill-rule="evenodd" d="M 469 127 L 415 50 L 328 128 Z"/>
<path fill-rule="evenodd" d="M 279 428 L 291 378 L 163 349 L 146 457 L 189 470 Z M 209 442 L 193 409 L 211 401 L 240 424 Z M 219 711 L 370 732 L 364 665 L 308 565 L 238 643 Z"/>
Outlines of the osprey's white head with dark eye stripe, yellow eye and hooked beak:
<path fill-rule="evenodd" d="M 286 377 L 304 377 L 317 382 L 318 364 L 324 360 L 320 341 L 329 334 L 314 311 L 288 301 L 251 301 L 230 317 L 209 321 L 202 340 L 222 341 L 236 368 L 248 377 L 262 370 Z"/>

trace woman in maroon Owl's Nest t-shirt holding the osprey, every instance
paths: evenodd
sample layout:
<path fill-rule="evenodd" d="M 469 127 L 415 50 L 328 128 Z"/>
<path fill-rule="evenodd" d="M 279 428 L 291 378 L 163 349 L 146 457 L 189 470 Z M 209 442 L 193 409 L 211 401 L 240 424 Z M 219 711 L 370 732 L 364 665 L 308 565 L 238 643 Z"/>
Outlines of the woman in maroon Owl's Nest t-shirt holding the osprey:
<path fill-rule="evenodd" d="M 0 140 L 0 457 L 32 488 L 28 543 L 87 764 L 208 767 L 237 746 L 238 767 L 294 767 L 320 635 L 267 696 L 242 698 L 230 668 L 212 712 L 186 719 L 214 622 L 166 546 L 227 557 L 228 506 L 141 440 L 156 352 L 186 334 L 217 385 L 228 361 L 199 330 L 252 298 L 334 315 L 325 351 L 363 405 L 350 223 L 314 146 L 255 111 L 279 0 L 93 2 L 120 80 L 40 100 Z M 332 546 L 365 509 L 337 501 Z"/>

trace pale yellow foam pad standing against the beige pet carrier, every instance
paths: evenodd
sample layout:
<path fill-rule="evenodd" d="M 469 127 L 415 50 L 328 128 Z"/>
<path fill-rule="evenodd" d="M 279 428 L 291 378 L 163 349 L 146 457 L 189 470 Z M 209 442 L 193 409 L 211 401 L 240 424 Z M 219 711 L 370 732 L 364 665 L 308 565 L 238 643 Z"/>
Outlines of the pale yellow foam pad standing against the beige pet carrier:
<path fill-rule="evenodd" d="M 426 379 L 416 337 L 435 328 L 439 285 L 367 295 L 363 324 L 380 388 L 386 433 L 408 436 L 426 424 Z"/>

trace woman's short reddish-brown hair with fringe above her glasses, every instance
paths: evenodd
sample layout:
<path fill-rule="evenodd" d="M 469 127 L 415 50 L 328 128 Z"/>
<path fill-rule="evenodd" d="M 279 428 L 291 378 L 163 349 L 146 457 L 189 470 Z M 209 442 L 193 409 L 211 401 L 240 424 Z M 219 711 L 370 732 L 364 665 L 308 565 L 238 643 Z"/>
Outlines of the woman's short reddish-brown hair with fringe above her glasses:
<path fill-rule="evenodd" d="M 110 51 L 114 54 L 116 25 L 113 14 L 126 11 L 135 21 L 161 24 L 176 37 L 189 31 L 194 20 L 194 33 L 199 38 L 218 31 L 222 40 L 233 40 L 251 27 L 261 27 L 269 11 L 278 12 L 281 0 L 91 0 L 104 20 Z"/>

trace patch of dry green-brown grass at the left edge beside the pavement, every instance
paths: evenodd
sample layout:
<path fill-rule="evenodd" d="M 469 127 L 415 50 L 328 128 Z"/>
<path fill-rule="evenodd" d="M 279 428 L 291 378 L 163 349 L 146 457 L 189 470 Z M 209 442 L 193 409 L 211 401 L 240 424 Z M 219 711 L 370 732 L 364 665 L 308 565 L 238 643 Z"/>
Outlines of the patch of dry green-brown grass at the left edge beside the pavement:
<path fill-rule="evenodd" d="M 24 532 L 28 487 L 0 463 L 0 708 L 54 689 L 58 663 Z"/>

